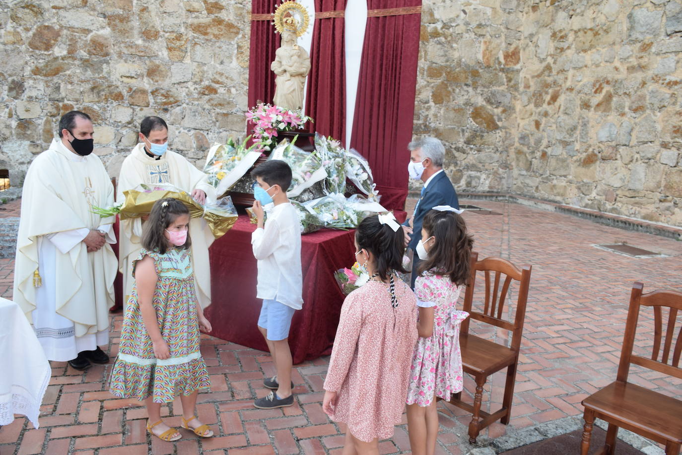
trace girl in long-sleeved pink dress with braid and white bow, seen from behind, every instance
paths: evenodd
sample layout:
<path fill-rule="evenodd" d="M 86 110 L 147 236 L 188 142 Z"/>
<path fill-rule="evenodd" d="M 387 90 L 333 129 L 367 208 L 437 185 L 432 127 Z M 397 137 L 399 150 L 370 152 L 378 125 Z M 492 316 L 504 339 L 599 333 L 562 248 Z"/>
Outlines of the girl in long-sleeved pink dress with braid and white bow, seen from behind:
<path fill-rule="evenodd" d="M 355 248 L 371 279 L 341 308 L 323 409 L 348 426 L 344 454 L 379 454 L 379 439 L 393 435 L 405 407 L 417 299 L 396 276 L 405 273 L 404 234 L 392 214 L 362 220 Z"/>

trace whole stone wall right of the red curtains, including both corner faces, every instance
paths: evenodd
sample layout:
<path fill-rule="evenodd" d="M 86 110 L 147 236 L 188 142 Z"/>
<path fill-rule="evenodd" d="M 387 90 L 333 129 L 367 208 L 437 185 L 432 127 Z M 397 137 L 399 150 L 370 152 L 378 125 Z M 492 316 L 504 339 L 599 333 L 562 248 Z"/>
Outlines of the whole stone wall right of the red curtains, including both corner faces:
<path fill-rule="evenodd" d="M 682 1 L 424 3 L 415 133 L 460 192 L 682 224 Z"/>

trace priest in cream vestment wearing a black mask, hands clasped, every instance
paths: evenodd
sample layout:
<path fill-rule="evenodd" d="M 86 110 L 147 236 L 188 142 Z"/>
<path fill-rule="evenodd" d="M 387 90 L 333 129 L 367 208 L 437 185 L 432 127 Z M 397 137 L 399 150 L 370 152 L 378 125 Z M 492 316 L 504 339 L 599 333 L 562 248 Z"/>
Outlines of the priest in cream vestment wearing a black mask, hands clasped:
<path fill-rule="evenodd" d="M 48 359 L 84 370 L 106 363 L 108 308 L 114 303 L 116 256 L 110 207 L 114 188 L 98 156 L 93 126 L 79 111 L 59 121 L 59 139 L 29 166 L 21 199 L 14 301 L 33 324 Z"/>

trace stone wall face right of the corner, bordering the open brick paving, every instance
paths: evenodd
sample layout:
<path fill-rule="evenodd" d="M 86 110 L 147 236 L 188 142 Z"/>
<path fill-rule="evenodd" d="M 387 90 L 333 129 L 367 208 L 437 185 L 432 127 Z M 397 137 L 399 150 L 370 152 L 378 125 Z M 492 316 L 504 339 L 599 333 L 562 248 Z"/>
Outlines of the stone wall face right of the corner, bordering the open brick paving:
<path fill-rule="evenodd" d="M 523 5 L 513 192 L 682 224 L 682 1 Z"/>

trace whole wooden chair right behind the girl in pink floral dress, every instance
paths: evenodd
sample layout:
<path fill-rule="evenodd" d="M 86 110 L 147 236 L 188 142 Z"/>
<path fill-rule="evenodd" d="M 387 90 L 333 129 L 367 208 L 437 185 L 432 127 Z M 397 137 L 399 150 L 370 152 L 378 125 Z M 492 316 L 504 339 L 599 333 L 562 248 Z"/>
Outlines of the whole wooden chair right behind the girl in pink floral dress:
<path fill-rule="evenodd" d="M 454 395 L 450 400 L 451 404 L 473 413 L 471 423 L 469 423 L 469 443 L 475 443 L 479 432 L 492 422 L 501 419 L 503 424 L 509 423 L 511 400 L 514 398 L 514 383 L 516 382 L 516 365 L 518 364 L 518 353 L 526 316 L 528 288 L 531 282 L 531 268 L 530 265 L 527 265 L 518 269 L 514 264 L 501 258 L 486 258 L 476 261 L 471 267 L 471 278 L 466 286 L 464 308 L 462 308 L 462 310 L 469 312 L 470 317 L 462 322 L 460 348 L 462 349 L 462 367 L 464 372 L 474 377 L 476 392 L 473 405 L 462 401 L 461 392 Z M 477 312 L 472 308 L 477 271 L 484 272 L 486 282 L 486 299 L 482 312 Z M 503 278 L 503 276 L 505 277 Z M 514 321 L 506 321 L 503 319 L 503 310 L 512 280 L 518 282 L 516 314 Z M 501 283 L 502 286 L 500 287 Z M 469 321 L 471 319 L 490 324 L 493 326 L 492 328 L 499 327 L 511 332 L 511 345 L 507 347 L 469 334 Z M 507 368 L 507 381 L 501 409 L 493 413 L 481 411 L 483 386 L 490 375 L 503 368 Z"/>

